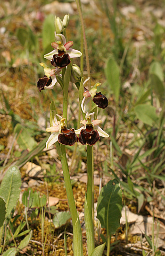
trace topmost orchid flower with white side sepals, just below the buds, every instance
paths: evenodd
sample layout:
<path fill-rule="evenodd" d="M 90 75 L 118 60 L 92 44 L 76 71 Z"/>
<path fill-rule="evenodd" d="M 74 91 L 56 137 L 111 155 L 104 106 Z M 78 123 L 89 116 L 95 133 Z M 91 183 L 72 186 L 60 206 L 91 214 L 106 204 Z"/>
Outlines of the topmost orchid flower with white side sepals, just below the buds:
<path fill-rule="evenodd" d="M 57 42 L 51 44 L 53 51 L 44 55 L 44 58 L 51 61 L 51 64 L 58 68 L 64 68 L 70 63 L 70 58 L 81 57 L 82 53 L 78 50 L 70 48 L 74 42 L 66 43 L 66 38 L 62 34 L 55 35 Z"/>

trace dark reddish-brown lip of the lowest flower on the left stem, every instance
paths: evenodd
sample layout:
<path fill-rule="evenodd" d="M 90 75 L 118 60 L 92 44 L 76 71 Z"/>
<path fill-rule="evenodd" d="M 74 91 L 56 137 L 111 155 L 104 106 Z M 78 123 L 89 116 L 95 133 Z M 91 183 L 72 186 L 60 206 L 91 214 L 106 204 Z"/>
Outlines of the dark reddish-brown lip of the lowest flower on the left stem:
<path fill-rule="evenodd" d="M 58 142 L 69 146 L 73 146 L 75 142 L 78 142 L 78 137 L 74 132 L 74 128 L 67 129 L 66 126 L 61 128 L 61 133 L 58 135 Z"/>

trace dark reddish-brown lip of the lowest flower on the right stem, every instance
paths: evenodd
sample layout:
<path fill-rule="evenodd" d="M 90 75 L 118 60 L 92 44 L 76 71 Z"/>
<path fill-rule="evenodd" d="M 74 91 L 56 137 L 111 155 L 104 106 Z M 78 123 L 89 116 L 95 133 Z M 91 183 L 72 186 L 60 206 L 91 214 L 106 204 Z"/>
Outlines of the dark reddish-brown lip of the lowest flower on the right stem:
<path fill-rule="evenodd" d="M 94 145 L 99 141 L 99 132 L 97 130 L 93 130 L 92 125 L 86 125 L 86 129 L 81 130 L 78 140 L 82 145 Z"/>

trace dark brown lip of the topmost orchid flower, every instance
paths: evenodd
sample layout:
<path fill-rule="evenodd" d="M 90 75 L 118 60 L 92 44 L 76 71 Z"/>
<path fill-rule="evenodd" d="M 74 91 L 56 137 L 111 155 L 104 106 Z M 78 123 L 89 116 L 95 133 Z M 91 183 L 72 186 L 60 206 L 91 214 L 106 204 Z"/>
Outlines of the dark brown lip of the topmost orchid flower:
<path fill-rule="evenodd" d="M 54 54 L 53 59 L 51 61 L 51 64 L 56 68 L 65 68 L 67 65 L 69 65 L 69 63 L 70 57 L 68 53 L 65 53 L 63 55 L 60 55 L 60 53 Z"/>

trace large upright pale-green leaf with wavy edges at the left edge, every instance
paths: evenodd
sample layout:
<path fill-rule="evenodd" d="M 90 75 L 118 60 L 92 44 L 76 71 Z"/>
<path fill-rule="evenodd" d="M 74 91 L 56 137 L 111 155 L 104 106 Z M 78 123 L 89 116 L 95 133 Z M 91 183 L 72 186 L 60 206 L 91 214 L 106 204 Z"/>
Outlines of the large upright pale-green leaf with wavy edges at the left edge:
<path fill-rule="evenodd" d="M 16 201 L 19 198 L 20 186 L 20 171 L 16 166 L 12 166 L 7 170 L 0 186 L 0 196 L 4 198 L 6 202 L 6 217 L 16 206 Z"/>

